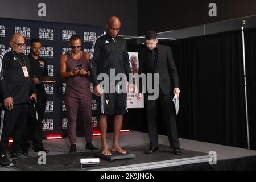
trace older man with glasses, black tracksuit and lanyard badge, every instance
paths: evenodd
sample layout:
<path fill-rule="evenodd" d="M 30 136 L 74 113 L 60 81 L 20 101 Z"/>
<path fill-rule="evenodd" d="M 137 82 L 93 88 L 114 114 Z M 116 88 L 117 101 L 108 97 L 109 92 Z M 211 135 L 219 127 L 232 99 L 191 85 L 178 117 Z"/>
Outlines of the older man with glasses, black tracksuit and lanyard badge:
<path fill-rule="evenodd" d="M 20 153 L 20 139 L 27 122 L 28 103 L 36 100 L 36 89 L 30 75 L 28 57 L 24 55 L 25 40 L 20 34 L 13 34 L 11 51 L 0 55 L 0 92 L 3 99 L 0 127 L 0 164 L 9 167 L 6 156 L 9 138 L 13 137 L 12 158 L 24 158 Z"/>

